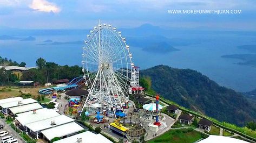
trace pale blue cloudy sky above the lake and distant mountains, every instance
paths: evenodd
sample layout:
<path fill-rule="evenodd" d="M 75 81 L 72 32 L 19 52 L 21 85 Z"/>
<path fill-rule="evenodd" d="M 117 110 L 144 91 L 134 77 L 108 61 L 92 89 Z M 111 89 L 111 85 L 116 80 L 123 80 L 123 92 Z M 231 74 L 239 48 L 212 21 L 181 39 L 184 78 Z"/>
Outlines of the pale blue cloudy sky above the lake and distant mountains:
<path fill-rule="evenodd" d="M 168 9 L 238 9 L 237 15 L 170 15 Z M 117 27 L 145 23 L 161 27 L 256 31 L 255 0 L 0 0 L 0 26 L 90 28 L 101 19 Z"/>

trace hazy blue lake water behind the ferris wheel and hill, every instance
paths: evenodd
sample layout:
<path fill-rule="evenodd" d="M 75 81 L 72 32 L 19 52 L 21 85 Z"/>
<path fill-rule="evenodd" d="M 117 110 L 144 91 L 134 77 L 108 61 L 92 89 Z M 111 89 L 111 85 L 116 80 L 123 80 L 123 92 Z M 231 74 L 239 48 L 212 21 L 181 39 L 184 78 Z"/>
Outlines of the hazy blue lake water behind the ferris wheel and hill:
<path fill-rule="evenodd" d="M 58 35 L 31 35 L 34 41 L 0 40 L 0 56 L 18 62 L 26 62 L 27 67 L 35 66 L 37 58 L 45 58 L 50 62 L 60 65 L 81 66 L 81 54 L 83 44 L 65 43 L 51 45 L 52 42 L 83 41 L 87 33 L 58 34 Z M 179 32 L 178 32 L 179 33 Z M 8 34 L 8 33 L 6 33 Z M 135 34 L 123 34 L 129 39 L 136 38 Z M 15 37 L 28 37 L 29 35 L 15 35 Z M 161 35 L 162 36 L 162 35 Z M 226 54 L 248 53 L 237 48 L 241 45 L 255 45 L 255 34 L 245 35 L 239 33 L 218 34 L 214 32 L 202 32 L 200 34 L 165 34 L 166 37 L 176 38 L 179 42 L 186 40 L 196 41 L 195 44 L 173 46 L 180 51 L 174 52 L 147 52 L 136 44 L 131 44 L 135 65 L 141 69 L 156 65 L 168 65 L 173 68 L 189 68 L 200 71 L 202 74 L 216 81 L 220 85 L 232 88 L 236 91 L 250 91 L 256 88 L 256 68 L 252 66 L 237 65 L 241 60 L 221 58 Z M 146 35 L 144 36 L 146 37 Z M 41 45 L 40 45 L 41 44 Z M 45 45 L 42 45 L 45 44 Z M 133 45 L 133 46 L 132 46 Z M 146 45 L 146 43 L 145 43 Z M 159 47 L 161 51 L 161 47 Z"/>

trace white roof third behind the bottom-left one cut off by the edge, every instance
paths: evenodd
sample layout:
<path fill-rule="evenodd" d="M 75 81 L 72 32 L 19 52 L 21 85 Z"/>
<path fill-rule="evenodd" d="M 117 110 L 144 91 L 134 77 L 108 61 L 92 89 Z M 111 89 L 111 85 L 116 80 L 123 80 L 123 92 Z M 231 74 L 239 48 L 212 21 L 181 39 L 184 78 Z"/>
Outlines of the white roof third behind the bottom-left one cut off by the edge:
<path fill-rule="evenodd" d="M 16 119 L 24 126 L 25 124 L 52 118 L 55 116 L 60 116 L 60 114 L 52 109 L 42 108 L 36 110 L 36 113 L 33 113 L 33 111 L 19 113 L 17 114 Z"/>

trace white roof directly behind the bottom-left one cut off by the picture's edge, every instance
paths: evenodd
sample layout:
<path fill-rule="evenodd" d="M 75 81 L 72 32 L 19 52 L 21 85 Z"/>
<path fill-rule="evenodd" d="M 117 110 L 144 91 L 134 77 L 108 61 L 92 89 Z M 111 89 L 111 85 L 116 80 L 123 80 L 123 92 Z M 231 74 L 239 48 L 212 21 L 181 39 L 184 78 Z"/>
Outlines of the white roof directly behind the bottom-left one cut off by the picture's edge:
<path fill-rule="evenodd" d="M 63 137 L 65 135 L 73 134 L 84 130 L 83 127 L 76 124 L 74 121 L 71 123 L 63 124 L 60 126 L 52 127 L 41 131 L 41 133 L 48 139 L 51 140 L 55 137 Z"/>

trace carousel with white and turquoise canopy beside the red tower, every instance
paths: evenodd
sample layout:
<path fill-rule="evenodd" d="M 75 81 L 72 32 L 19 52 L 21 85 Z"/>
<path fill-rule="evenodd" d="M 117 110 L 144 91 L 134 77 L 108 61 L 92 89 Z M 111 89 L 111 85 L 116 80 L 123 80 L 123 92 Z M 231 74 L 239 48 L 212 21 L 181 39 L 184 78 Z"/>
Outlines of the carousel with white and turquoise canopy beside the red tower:
<path fill-rule="evenodd" d="M 152 101 L 152 103 L 145 104 L 142 106 L 143 108 L 143 115 L 141 116 L 141 119 L 153 122 L 156 120 L 157 117 L 157 110 L 156 110 L 156 103 Z M 159 120 L 163 119 L 163 116 L 161 115 L 161 110 L 163 109 L 162 105 L 158 105 L 158 116 Z"/>

